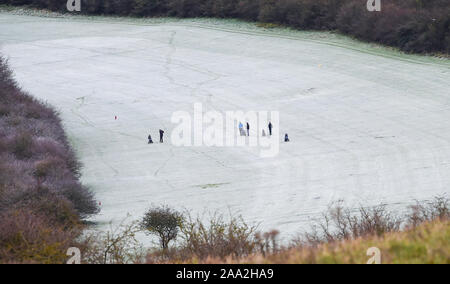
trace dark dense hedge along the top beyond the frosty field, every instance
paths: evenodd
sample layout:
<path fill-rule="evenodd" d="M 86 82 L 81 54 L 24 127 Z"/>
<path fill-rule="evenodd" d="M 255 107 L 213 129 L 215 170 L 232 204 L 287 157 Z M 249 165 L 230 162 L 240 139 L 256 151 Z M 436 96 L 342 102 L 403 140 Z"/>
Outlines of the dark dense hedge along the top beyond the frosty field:
<path fill-rule="evenodd" d="M 82 0 L 82 12 L 120 16 L 238 18 L 296 29 L 338 30 L 358 39 L 407 52 L 450 53 L 448 0 L 381 0 L 368 12 L 366 0 Z M 0 0 L 66 11 L 63 0 Z"/>

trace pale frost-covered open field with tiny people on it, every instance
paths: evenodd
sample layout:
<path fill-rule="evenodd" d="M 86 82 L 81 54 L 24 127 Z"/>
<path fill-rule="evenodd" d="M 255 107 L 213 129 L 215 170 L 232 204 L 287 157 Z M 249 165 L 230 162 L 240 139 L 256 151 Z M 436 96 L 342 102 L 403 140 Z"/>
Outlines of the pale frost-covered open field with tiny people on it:
<path fill-rule="evenodd" d="M 331 201 L 404 207 L 450 192 L 449 60 L 219 20 L 0 13 L 0 44 L 21 86 L 60 111 L 101 228 L 153 203 L 288 236 Z M 279 111 L 291 142 L 273 158 L 147 144 L 196 102 Z"/>

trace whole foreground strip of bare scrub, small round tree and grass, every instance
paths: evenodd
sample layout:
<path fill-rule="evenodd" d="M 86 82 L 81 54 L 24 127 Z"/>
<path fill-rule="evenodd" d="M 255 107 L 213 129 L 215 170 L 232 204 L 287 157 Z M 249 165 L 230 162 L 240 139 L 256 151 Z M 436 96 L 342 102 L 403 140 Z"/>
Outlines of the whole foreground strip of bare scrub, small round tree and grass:
<path fill-rule="evenodd" d="M 258 226 L 232 214 L 192 217 L 189 212 L 168 210 L 166 206 L 152 207 L 141 222 L 92 236 L 84 251 L 84 261 L 364 264 L 371 258 L 368 249 L 377 248 L 381 262 L 386 264 L 450 264 L 449 209 L 446 197 L 417 203 L 408 207 L 406 214 L 389 211 L 384 205 L 350 209 L 341 203 L 333 204 L 312 224 L 312 229 L 283 244 L 278 240 L 278 231 L 261 233 Z M 171 220 L 172 217 L 176 220 Z M 159 247 L 155 242 L 154 247 L 143 249 L 135 238 L 142 230 L 158 234 L 170 231 L 171 241 L 161 242 L 166 238 L 159 234 Z"/>

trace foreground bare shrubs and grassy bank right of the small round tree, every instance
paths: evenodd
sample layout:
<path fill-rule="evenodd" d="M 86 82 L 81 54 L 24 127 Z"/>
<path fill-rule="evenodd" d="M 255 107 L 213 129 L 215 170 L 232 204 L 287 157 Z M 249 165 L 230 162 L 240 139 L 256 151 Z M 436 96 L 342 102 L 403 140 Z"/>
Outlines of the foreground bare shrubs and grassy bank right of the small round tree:
<path fill-rule="evenodd" d="M 446 197 L 418 202 L 404 216 L 386 206 L 349 209 L 332 205 L 312 228 L 287 246 L 278 232 L 256 233 L 242 219 L 214 216 L 183 228 L 182 241 L 171 250 L 153 250 L 147 263 L 359 263 L 371 247 L 383 263 L 450 263 L 450 210 Z"/>

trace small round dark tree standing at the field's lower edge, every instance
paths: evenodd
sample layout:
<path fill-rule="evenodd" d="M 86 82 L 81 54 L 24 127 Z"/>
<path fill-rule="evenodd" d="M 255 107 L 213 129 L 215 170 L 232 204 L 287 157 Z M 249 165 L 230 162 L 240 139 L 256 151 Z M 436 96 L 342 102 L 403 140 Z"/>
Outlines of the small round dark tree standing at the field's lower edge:
<path fill-rule="evenodd" d="M 159 238 L 161 248 L 167 250 L 175 240 L 184 222 L 183 214 L 166 205 L 150 208 L 141 221 L 141 228 Z"/>

